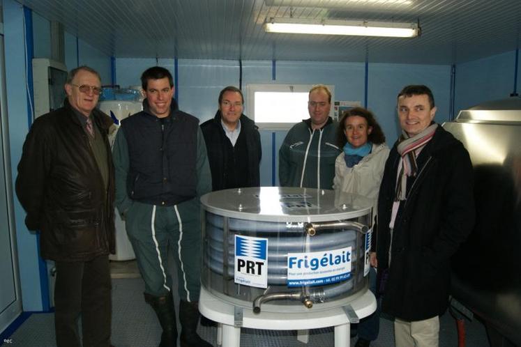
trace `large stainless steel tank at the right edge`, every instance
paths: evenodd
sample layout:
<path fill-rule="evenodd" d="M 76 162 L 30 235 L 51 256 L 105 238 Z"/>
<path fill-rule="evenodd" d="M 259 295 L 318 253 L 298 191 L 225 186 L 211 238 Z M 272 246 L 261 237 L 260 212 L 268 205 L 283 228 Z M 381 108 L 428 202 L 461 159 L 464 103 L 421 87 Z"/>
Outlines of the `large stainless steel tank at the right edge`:
<path fill-rule="evenodd" d="M 521 99 L 476 105 L 443 126 L 469 151 L 476 204 L 452 295 L 485 321 L 491 346 L 521 346 Z"/>

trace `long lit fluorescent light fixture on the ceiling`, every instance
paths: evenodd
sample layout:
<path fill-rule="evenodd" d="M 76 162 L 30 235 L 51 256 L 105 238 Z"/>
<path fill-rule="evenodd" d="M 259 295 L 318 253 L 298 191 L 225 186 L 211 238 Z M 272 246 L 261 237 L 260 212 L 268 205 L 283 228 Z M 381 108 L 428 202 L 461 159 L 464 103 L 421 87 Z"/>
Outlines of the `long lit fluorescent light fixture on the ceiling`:
<path fill-rule="evenodd" d="M 420 34 L 420 26 L 417 23 L 271 18 L 264 23 L 264 31 L 267 33 L 414 38 Z"/>

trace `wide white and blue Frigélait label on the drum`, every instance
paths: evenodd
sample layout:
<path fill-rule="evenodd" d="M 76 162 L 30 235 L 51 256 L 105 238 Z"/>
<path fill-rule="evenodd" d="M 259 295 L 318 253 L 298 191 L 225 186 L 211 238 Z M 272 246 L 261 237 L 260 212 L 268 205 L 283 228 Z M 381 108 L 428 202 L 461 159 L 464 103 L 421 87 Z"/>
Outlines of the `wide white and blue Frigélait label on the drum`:
<path fill-rule="evenodd" d="M 324 286 L 351 277 L 351 247 L 287 254 L 288 287 Z"/>

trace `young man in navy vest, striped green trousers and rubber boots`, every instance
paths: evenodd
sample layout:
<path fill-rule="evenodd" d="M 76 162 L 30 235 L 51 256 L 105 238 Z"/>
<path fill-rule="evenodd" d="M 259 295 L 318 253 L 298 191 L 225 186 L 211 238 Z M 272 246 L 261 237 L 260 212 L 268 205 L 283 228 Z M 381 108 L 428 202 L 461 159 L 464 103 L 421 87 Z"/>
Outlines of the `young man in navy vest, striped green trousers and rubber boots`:
<path fill-rule="evenodd" d="M 197 335 L 201 261 L 199 197 L 211 191 L 199 120 L 179 111 L 170 72 L 141 76 L 143 111 L 121 122 L 114 144 L 116 205 L 145 282 L 144 299 L 158 316 L 160 347 L 177 346 L 168 254 L 176 257 L 181 347 L 210 347 Z"/>

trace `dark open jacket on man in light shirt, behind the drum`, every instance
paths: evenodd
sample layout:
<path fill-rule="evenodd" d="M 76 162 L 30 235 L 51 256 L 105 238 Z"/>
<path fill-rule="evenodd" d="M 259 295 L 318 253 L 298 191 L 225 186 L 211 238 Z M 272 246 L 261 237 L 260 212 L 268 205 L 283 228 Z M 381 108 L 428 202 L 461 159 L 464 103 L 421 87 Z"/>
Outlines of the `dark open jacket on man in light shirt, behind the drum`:
<path fill-rule="evenodd" d="M 220 119 L 221 114 L 218 110 L 213 119 L 201 125 L 210 162 L 213 191 L 225 189 L 228 171 L 226 165 L 228 162 L 227 155 L 229 155 L 227 151 L 227 141 L 229 139 L 226 137 L 225 130 L 222 129 Z M 241 133 L 243 132 L 245 135 L 246 151 L 248 153 L 248 187 L 259 187 L 259 164 L 262 157 L 259 130 L 257 130 L 257 125 L 244 114 L 241 114 L 239 121 L 241 122 Z"/>

